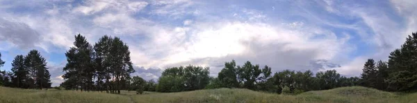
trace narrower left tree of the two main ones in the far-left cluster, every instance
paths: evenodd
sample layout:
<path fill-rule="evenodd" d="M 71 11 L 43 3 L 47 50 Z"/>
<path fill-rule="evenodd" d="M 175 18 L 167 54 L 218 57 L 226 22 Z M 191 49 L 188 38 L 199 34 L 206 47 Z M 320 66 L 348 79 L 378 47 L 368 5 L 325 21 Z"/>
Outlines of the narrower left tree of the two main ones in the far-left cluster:
<path fill-rule="evenodd" d="M 27 81 L 29 80 L 29 71 L 24 65 L 23 55 L 17 55 L 15 57 L 10 70 L 13 72 L 15 77 L 15 79 L 12 79 L 13 84 L 15 84 L 17 88 L 28 88 L 29 84 Z"/>

